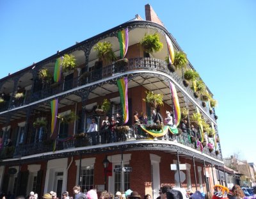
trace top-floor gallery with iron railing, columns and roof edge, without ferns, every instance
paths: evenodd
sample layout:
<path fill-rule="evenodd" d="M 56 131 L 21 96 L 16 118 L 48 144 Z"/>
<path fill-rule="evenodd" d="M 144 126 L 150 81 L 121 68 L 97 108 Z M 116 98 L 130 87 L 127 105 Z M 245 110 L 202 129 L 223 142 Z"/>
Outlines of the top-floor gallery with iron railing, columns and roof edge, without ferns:
<path fill-rule="evenodd" d="M 94 51 L 95 45 L 98 42 L 108 41 L 113 46 L 113 51 L 116 56 L 120 55 L 120 45 L 117 38 L 117 32 L 124 29 L 129 29 L 129 47 L 125 58 L 129 61 L 127 63 L 120 63 L 120 61 L 113 61 L 113 63 L 106 65 L 106 63 L 99 61 L 97 53 Z M 141 40 L 145 34 L 159 35 L 160 41 L 163 43 L 163 49 L 159 52 L 150 54 L 143 51 L 141 47 Z M 31 67 L 17 72 L 10 77 L 5 77 L 0 81 L 0 92 L 3 100 L 0 101 L 0 112 L 17 109 L 27 104 L 35 104 L 38 100 L 53 98 L 60 96 L 62 93 L 74 92 L 81 88 L 86 88 L 89 84 L 106 81 L 111 77 L 129 76 L 132 73 L 148 72 L 161 74 L 170 78 L 179 88 L 184 90 L 191 99 L 195 100 L 199 107 L 204 109 L 205 113 L 215 120 L 214 115 L 209 113 L 209 107 L 204 107 L 202 100 L 195 97 L 193 90 L 189 86 L 183 84 L 184 70 L 192 68 L 188 63 L 187 67 L 175 72 L 170 72 L 167 67 L 166 56 L 168 55 L 168 47 L 166 44 L 166 37 L 168 36 L 172 42 L 175 51 L 181 51 L 179 45 L 173 39 L 172 35 L 166 31 L 165 28 L 153 22 L 132 21 L 117 26 L 109 31 L 94 36 L 84 42 L 76 44 L 62 52 L 47 58 L 39 63 L 33 64 Z M 76 70 L 61 74 L 61 80 L 54 83 L 53 78 L 45 83 L 38 77 L 38 72 L 42 68 L 47 68 L 49 74 L 53 76 L 54 65 L 57 58 L 64 54 L 73 54 L 76 58 Z M 209 92 L 209 90 L 208 90 Z M 18 96 L 17 96 L 18 94 Z M 20 94 L 20 95 L 19 95 Z M 211 92 L 210 92 L 211 94 Z M 204 105 L 204 106 L 203 106 Z"/>

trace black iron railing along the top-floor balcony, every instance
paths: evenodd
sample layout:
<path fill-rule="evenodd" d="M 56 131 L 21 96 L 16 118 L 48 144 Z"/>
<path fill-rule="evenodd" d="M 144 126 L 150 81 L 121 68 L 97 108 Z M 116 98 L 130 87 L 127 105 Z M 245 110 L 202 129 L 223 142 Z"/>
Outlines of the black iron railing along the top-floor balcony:
<path fill-rule="evenodd" d="M 197 99 L 193 95 L 193 91 L 191 90 L 191 88 L 189 88 L 189 86 L 184 86 L 184 84 L 182 83 L 183 79 L 179 76 L 179 74 L 177 74 L 176 72 L 170 72 L 167 68 L 167 64 L 165 61 L 154 58 L 132 58 L 129 59 L 127 65 L 118 65 L 117 62 L 106 67 L 97 67 L 95 65 L 90 68 L 89 72 L 85 72 L 86 76 L 83 76 L 83 74 L 81 74 L 81 77 L 75 77 L 68 81 L 64 80 L 59 83 L 48 84 L 44 86 L 44 89 L 37 92 L 32 92 L 31 95 L 26 97 L 25 100 L 13 100 L 13 102 L 10 104 L 10 108 L 12 109 L 14 107 L 19 107 L 25 104 L 29 104 L 31 102 L 35 102 L 37 100 L 45 99 L 46 97 L 51 97 L 52 95 L 58 95 L 63 92 L 68 92 L 68 90 L 71 89 L 73 89 L 72 91 L 74 91 L 74 89 L 79 89 L 88 83 L 93 83 L 95 81 L 99 81 L 100 79 L 106 79 L 107 77 L 118 76 L 118 74 L 121 73 L 132 71 L 140 73 L 140 70 L 143 70 L 143 72 L 145 72 L 145 70 L 148 70 L 148 72 L 163 72 L 164 74 L 168 74 L 179 84 L 179 86 L 181 86 L 184 91 L 189 94 L 189 96 L 195 102 L 197 102 L 197 104 L 202 109 L 204 109 L 205 113 L 207 113 L 207 115 L 209 115 L 212 120 L 216 120 L 214 118 L 214 114 L 209 114 L 209 108 L 203 107 L 201 100 Z M 7 109 L 7 107 L 3 106 L 1 110 L 4 111 L 4 109 Z"/>

